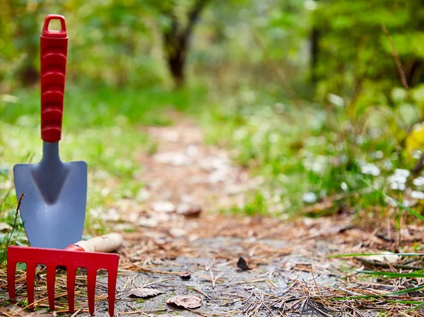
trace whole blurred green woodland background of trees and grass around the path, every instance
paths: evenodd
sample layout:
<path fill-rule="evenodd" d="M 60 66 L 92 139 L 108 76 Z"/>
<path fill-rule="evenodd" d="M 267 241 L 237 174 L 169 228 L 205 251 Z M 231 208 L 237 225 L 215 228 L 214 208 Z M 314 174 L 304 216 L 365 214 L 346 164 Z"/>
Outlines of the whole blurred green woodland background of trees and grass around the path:
<path fill-rule="evenodd" d="M 264 178 L 245 206 L 228 212 L 353 210 L 367 224 L 384 218 L 389 202 L 362 179 L 423 209 L 420 1 L 0 0 L 0 7 L 5 184 L 11 162 L 40 152 L 40 32 L 45 15 L 57 13 L 69 35 L 63 156 L 119 177 L 124 195 L 133 195 L 126 185 L 140 168 L 127 159 L 131 149 L 155 150 L 129 126 L 172 124 L 165 112 L 177 109 Z"/>

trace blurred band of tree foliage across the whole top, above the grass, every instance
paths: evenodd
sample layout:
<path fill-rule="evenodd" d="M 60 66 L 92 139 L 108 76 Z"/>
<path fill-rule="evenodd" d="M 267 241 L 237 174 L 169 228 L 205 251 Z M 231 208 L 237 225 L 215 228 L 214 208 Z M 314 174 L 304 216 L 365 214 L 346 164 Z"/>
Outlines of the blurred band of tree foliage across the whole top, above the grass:
<path fill-rule="evenodd" d="M 39 35 L 48 13 L 66 17 L 69 79 L 113 87 L 170 85 L 169 51 L 178 47 L 166 38 L 185 35 L 196 8 L 192 49 L 184 53 L 196 78 L 213 75 L 215 81 L 241 85 L 257 84 L 259 75 L 266 86 L 293 85 L 301 97 L 322 101 L 329 92 L 346 97 L 361 111 L 382 98 L 393 105 L 391 90 L 401 81 L 384 25 L 408 85 L 423 79 L 420 1 L 1 0 L 0 5 L 3 92 L 31 76 L 37 80 Z M 272 78 L 277 70 L 284 83 Z M 305 85 L 308 79 L 314 85 Z"/>

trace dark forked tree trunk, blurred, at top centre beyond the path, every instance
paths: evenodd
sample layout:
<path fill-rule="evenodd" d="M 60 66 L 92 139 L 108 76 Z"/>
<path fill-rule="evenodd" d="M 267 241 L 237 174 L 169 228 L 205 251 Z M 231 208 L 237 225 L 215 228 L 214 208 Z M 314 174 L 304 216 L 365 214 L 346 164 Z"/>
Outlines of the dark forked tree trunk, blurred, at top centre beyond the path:
<path fill-rule="evenodd" d="M 194 25 L 196 25 L 201 11 L 209 1 L 211 0 L 196 1 L 189 12 L 188 23 L 185 28 L 180 28 L 180 23 L 173 12 L 168 13 L 172 23 L 170 29 L 163 32 L 163 42 L 167 65 L 177 88 L 181 88 L 185 82 L 185 64 Z"/>

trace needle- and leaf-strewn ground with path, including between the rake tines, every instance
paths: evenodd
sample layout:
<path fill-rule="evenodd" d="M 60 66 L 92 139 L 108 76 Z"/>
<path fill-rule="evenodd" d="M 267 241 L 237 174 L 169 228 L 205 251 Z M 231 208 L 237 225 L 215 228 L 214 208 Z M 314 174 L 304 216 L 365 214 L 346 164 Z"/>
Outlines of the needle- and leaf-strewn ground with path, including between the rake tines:
<path fill-rule="evenodd" d="M 384 299 L 416 287 L 419 279 L 377 279 L 360 273 L 370 268 L 407 271 L 420 265 L 416 260 L 393 255 L 328 257 L 396 251 L 400 246 L 408 250 L 422 241 L 421 227 L 406 227 L 399 234 L 391 229 L 367 232 L 353 225 L 353 215 L 346 210 L 332 217 L 295 220 L 224 215 L 219 210 L 242 205 L 249 192 L 261 186 L 261 178 L 232 165 L 225 150 L 206 145 L 201 129 L 187 119 L 144 129 L 157 148 L 153 155 L 138 155 L 143 166 L 140 182 L 146 184 L 139 193 L 143 203 L 120 201 L 102 215 L 114 231 L 125 232 L 118 251 L 117 316 L 380 316 L 382 311 L 401 316 L 411 309 L 406 301 L 423 301 L 418 293 L 400 294 L 395 302 Z M 114 181 L 119 180 L 108 184 L 112 190 Z M 45 273 L 38 278 L 37 307 L 45 309 Z M 77 277 L 81 283 L 72 316 L 88 316 L 85 278 Z M 109 316 L 105 281 L 98 277 L 95 316 Z M 37 311 L 33 316 L 65 313 L 64 290 L 59 280 L 56 312 Z M 0 295 L 5 292 L 6 287 L 0 287 Z M 139 298 L 134 297 L 137 292 Z M 23 282 L 18 294 L 25 299 Z M 201 305 L 185 309 L 167 304 L 180 295 L 199 297 Z M 22 306 L 6 306 L 0 316 L 27 315 Z M 405 316 L 424 314 L 418 309 Z"/>

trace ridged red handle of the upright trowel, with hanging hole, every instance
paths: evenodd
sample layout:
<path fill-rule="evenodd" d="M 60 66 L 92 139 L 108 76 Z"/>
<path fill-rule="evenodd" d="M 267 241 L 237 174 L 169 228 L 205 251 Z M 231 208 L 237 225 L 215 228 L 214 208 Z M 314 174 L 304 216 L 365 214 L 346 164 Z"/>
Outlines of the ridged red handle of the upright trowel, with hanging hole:
<path fill-rule="evenodd" d="M 49 30 L 51 20 L 60 21 L 60 30 Z M 57 142 L 61 138 L 67 54 L 65 18 L 49 14 L 40 35 L 41 138 L 46 142 Z"/>

